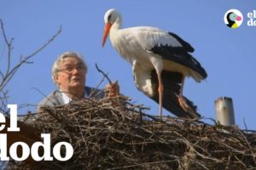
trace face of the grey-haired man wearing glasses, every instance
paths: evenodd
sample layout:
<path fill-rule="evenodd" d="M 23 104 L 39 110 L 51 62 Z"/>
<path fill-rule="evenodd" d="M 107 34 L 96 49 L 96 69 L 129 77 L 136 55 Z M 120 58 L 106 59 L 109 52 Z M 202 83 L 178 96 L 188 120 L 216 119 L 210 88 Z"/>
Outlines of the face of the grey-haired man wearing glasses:
<path fill-rule="evenodd" d="M 55 82 L 62 91 L 70 92 L 70 89 L 84 88 L 86 68 L 83 62 L 76 57 L 67 57 L 59 65 L 59 72 Z"/>

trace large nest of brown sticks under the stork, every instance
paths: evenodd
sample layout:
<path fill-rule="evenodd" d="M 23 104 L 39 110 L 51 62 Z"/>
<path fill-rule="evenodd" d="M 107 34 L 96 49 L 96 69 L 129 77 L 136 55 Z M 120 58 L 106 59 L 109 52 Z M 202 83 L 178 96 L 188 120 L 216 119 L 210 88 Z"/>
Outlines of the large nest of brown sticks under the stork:
<path fill-rule="evenodd" d="M 84 99 L 44 107 L 32 126 L 51 145 L 73 145 L 68 161 L 15 162 L 12 169 L 255 169 L 256 134 L 199 120 L 148 116 L 140 106 Z M 66 150 L 62 150 L 65 153 Z"/>

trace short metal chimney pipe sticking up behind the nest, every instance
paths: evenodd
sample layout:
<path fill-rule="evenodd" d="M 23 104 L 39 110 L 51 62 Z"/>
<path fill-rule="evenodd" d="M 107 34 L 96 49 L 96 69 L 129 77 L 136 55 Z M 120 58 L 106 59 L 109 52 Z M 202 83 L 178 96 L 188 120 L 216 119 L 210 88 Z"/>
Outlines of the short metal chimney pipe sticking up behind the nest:
<path fill-rule="evenodd" d="M 224 126 L 235 125 L 233 101 L 228 97 L 221 97 L 215 100 L 216 122 Z"/>

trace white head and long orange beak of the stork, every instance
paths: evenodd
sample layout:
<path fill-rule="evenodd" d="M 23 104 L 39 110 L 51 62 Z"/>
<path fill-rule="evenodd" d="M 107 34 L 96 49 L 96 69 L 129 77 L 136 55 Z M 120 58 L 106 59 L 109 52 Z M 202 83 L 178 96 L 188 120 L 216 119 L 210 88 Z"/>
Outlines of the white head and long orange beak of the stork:
<path fill-rule="evenodd" d="M 113 23 L 115 23 L 117 20 L 121 20 L 119 13 L 114 8 L 108 9 L 106 14 L 104 15 L 105 29 L 102 39 L 102 47 L 106 42 L 111 26 L 113 26 Z"/>

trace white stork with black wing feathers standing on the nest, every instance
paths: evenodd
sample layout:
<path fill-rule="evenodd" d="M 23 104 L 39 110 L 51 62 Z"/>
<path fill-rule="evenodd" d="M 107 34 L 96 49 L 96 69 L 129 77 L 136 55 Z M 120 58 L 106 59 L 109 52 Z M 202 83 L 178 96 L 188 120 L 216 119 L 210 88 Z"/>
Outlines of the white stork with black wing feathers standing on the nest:
<path fill-rule="evenodd" d="M 113 8 L 105 16 L 102 47 L 110 37 L 113 48 L 132 65 L 137 88 L 176 116 L 197 118 L 196 106 L 183 97 L 185 77 L 196 82 L 207 77 L 207 72 L 189 52 L 194 48 L 172 32 L 139 26 L 121 29 L 122 17 Z"/>

